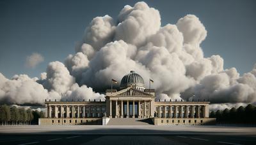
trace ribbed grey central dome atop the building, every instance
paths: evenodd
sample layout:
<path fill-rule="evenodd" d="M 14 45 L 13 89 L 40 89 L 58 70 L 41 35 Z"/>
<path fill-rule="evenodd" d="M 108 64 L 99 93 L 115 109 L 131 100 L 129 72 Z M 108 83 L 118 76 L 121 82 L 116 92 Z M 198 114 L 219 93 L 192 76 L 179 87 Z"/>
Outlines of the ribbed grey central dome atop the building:
<path fill-rule="evenodd" d="M 143 91 L 145 89 L 144 80 L 140 74 L 131 71 L 129 74 L 126 74 L 121 81 L 120 89 L 128 88 L 133 86 L 134 88 Z"/>

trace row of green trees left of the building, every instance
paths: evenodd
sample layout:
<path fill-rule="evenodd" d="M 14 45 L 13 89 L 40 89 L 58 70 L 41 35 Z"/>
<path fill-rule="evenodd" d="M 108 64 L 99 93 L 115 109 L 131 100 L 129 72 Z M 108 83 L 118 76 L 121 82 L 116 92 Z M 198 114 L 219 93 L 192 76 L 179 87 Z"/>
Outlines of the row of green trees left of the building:
<path fill-rule="evenodd" d="M 44 118 L 43 111 L 33 111 L 24 107 L 0 106 L 1 125 L 31 125 L 38 124 L 38 118 Z"/>

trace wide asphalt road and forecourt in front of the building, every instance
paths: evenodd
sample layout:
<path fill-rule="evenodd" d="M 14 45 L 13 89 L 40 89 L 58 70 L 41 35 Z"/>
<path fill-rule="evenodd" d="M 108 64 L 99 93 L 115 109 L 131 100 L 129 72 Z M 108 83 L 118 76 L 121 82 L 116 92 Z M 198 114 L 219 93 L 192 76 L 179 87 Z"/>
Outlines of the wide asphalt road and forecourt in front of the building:
<path fill-rule="evenodd" d="M 0 127 L 0 144 L 256 144 L 256 127 Z"/>

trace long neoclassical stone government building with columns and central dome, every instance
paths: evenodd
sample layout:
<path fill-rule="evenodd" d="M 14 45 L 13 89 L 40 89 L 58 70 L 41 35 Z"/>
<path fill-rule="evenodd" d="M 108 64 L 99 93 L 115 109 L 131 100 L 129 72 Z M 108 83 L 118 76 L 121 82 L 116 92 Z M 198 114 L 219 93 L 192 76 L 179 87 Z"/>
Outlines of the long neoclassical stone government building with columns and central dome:
<path fill-rule="evenodd" d="M 206 125 L 210 102 L 155 100 L 134 71 L 125 75 L 120 89 L 106 90 L 106 100 L 45 100 L 45 118 L 39 125 Z"/>

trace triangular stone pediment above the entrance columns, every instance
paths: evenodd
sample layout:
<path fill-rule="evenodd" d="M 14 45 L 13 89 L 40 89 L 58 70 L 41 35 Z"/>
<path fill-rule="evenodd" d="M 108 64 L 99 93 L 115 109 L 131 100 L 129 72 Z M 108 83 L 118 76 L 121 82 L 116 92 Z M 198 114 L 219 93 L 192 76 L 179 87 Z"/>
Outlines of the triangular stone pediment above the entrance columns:
<path fill-rule="evenodd" d="M 120 90 L 118 92 L 115 92 L 113 93 L 111 96 L 116 96 L 116 95 L 124 95 L 124 96 L 129 96 L 129 95 L 148 95 L 148 96 L 152 96 L 152 94 L 150 93 L 146 93 L 146 92 L 143 92 L 141 90 L 137 90 L 136 88 L 132 88 L 132 87 L 129 87 L 129 88 L 125 88 L 124 90 Z"/>

